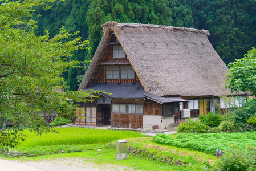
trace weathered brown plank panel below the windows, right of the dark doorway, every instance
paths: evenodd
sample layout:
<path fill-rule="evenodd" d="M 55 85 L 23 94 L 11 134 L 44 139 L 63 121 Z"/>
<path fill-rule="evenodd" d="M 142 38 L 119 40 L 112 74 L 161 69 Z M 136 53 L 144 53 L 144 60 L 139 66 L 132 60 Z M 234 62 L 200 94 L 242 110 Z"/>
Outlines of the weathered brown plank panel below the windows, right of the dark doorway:
<path fill-rule="evenodd" d="M 111 127 L 143 128 L 143 115 L 111 113 Z"/>

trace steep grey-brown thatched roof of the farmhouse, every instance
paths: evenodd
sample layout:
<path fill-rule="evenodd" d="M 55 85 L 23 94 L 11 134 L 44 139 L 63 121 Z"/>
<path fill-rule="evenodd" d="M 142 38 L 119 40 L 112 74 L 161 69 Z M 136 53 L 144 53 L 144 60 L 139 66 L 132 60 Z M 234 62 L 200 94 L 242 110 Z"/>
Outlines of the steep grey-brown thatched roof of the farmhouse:
<path fill-rule="evenodd" d="M 157 96 L 230 95 L 221 87 L 228 68 L 208 40 L 207 30 L 107 22 L 80 89 L 90 86 L 99 59 L 115 32 L 144 90 Z"/>

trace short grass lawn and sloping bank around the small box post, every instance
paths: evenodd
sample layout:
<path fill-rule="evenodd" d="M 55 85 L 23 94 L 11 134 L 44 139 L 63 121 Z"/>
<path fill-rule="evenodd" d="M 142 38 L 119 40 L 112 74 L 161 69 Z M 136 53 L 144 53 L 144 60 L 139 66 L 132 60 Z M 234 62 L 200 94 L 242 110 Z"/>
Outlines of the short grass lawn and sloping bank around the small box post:
<path fill-rule="evenodd" d="M 18 157 L 19 160 L 54 160 L 58 158 L 83 158 L 84 160 L 90 160 L 97 165 L 114 164 L 127 166 L 128 168 L 139 169 L 139 170 L 202 170 L 206 167 L 203 162 L 214 162 L 215 157 L 213 155 L 205 154 L 202 152 L 194 152 L 188 149 L 181 149 L 172 146 L 159 145 L 152 141 L 152 138 L 136 138 L 127 139 L 128 146 L 133 146 L 139 150 L 139 153 L 131 154 L 128 153 L 127 160 L 115 160 L 115 148 L 112 148 L 109 143 L 104 144 L 90 144 L 81 145 L 83 150 L 81 152 L 63 152 L 55 155 L 46 154 L 43 156 L 36 157 Z M 58 149 L 60 146 L 49 146 L 48 148 Z M 101 149 L 101 151 L 97 151 Z M 19 148 L 18 148 L 19 150 Z M 27 152 L 31 150 L 26 148 Z M 44 148 L 33 148 L 34 154 L 45 152 Z M 65 148 L 64 148 L 65 150 Z M 155 158 L 148 157 L 148 154 L 155 154 Z M 184 165 L 170 164 L 170 162 L 162 162 L 161 157 L 169 156 L 174 161 L 180 161 Z M 17 158 L 8 158 L 11 160 L 17 160 Z M 191 166 L 188 166 L 189 164 Z"/>

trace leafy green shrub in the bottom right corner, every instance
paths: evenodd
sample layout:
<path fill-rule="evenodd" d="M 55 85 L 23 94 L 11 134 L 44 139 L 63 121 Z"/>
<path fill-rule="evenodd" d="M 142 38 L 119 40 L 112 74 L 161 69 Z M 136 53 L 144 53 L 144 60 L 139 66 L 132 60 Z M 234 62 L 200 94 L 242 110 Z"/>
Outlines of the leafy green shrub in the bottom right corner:
<path fill-rule="evenodd" d="M 238 150 L 237 148 L 234 148 L 220 157 L 210 170 L 255 170 L 255 153 L 256 150 L 254 147 L 249 147 L 246 150 Z"/>

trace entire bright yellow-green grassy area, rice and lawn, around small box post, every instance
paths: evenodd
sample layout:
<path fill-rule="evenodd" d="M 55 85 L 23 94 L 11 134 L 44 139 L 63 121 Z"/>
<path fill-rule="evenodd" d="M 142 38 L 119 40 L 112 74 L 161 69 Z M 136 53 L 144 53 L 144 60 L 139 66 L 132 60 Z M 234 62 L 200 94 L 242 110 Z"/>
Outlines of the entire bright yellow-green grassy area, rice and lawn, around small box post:
<path fill-rule="evenodd" d="M 97 165 L 123 165 L 139 170 L 202 170 L 216 158 L 212 154 L 154 143 L 152 137 L 139 132 L 86 128 L 58 128 L 56 131 L 59 134 L 47 133 L 42 136 L 25 132 L 27 140 L 11 150 L 26 152 L 27 156 L 34 154 L 35 157 L 7 158 L 25 161 L 83 158 Z M 118 139 L 128 141 L 131 152 L 127 160 L 115 160 L 115 147 L 110 146 L 110 141 Z"/>

